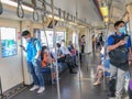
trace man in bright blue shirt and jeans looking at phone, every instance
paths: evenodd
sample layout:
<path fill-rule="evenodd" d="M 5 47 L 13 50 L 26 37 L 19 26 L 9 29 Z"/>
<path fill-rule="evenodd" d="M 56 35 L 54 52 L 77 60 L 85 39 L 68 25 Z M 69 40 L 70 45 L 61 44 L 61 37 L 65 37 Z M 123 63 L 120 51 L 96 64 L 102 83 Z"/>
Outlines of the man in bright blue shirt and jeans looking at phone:
<path fill-rule="evenodd" d="M 30 91 L 34 91 L 38 89 L 37 94 L 42 94 L 45 90 L 45 87 L 44 87 L 44 78 L 41 72 L 42 47 L 40 41 L 33 38 L 29 31 L 23 31 L 21 36 L 26 41 L 26 47 L 22 45 L 21 47 L 26 53 L 28 68 L 32 75 L 33 84 L 34 84 L 34 86 L 30 89 Z"/>

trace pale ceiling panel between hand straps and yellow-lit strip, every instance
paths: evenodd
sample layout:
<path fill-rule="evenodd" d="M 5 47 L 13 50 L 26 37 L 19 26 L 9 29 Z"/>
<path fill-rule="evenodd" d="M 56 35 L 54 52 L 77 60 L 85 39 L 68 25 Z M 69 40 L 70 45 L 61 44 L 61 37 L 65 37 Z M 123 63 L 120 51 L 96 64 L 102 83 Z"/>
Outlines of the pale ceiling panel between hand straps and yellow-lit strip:
<path fill-rule="evenodd" d="M 51 0 L 46 0 L 51 3 Z M 78 1 L 78 4 L 77 4 Z M 95 24 L 102 25 L 102 20 L 92 2 L 92 0 L 54 0 L 54 4 L 62 10 L 76 15 L 76 10 L 78 12 L 78 18 L 86 20 L 88 23 L 95 22 Z"/>

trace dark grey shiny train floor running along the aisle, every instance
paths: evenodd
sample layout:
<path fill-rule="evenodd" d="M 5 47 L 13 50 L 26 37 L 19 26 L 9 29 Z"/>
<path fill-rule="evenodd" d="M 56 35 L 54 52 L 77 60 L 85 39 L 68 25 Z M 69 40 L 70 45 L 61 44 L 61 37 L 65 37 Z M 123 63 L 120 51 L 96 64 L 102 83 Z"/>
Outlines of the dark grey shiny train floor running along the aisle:
<path fill-rule="evenodd" d="M 61 99 L 107 99 L 106 92 L 101 86 L 92 86 L 94 74 L 98 56 L 84 55 L 81 64 L 81 78 L 78 74 L 69 74 L 65 72 L 61 76 Z M 36 91 L 30 92 L 29 88 L 21 91 L 11 99 L 58 99 L 56 86 L 46 86 L 42 95 Z"/>

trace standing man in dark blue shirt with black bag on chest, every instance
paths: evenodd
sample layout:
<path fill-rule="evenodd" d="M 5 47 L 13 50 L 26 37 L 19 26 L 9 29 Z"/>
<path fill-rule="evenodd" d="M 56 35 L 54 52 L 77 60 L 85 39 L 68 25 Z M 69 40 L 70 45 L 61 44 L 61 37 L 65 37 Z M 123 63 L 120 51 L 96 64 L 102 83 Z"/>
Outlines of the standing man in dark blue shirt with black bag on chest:
<path fill-rule="evenodd" d="M 131 40 L 125 34 L 123 21 L 114 23 L 116 33 L 108 37 L 111 79 L 116 79 L 116 99 L 122 99 L 124 76 L 129 69 L 128 56 L 131 53 Z M 114 85 L 113 85 L 114 86 Z"/>

